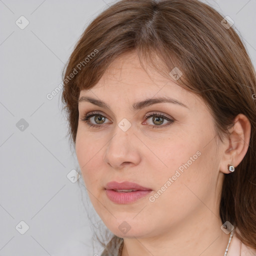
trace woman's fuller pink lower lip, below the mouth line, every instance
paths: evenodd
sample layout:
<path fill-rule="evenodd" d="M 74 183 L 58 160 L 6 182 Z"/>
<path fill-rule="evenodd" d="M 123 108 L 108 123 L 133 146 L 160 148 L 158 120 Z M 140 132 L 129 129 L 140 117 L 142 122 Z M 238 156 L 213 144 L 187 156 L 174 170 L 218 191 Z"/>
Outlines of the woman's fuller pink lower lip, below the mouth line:
<path fill-rule="evenodd" d="M 129 203 L 134 202 L 147 194 L 152 190 L 137 190 L 131 192 L 117 192 L 112 189 L 105 189 L 107 197 L 115 203 Z"/>

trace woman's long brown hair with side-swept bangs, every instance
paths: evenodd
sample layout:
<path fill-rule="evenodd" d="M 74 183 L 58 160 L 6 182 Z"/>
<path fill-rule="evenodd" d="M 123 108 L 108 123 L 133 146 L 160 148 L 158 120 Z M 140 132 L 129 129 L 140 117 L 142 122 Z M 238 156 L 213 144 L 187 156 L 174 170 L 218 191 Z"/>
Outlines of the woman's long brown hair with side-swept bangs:
<path fill-rule="evenodd" d="M 204 100 L 221 140 L 234 117 L 246 115 L 249 147 L 235 171 L 225 174 L 219 213 L 222 223 L 239 228 L 243 243 L 256 248 L 256 74 L 238 34 L 225 23 L 197 0 L 120 0 L 78 40 L 63 73 L 62 101 L 75 143 L 80 90 L 92 88 L 111 61 L 134 50 L 142 66 L 146 59 L 169 78 L 174 67 L 182 71 L 177 84 Z"/>

